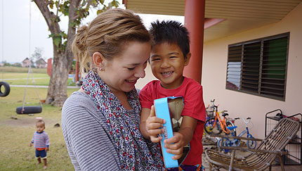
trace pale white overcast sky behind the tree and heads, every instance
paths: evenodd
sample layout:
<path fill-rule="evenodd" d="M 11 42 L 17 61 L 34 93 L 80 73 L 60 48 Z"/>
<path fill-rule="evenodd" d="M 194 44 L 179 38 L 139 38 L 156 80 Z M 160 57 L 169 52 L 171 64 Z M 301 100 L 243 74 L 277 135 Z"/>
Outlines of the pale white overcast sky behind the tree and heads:
<path fill-rule="evenodd" d="M 122 0 L 119 0 L 119 4 L 119 8 L 125 8 Z M 21 63 L 25 58 L 32 56 L 36 47 L 43 49 L 43 58 L 53 57 L 52 39 L 48 38 L 51 32 L 48 31 L 46 21 L 34 2 L 1 0 L 0 11 L 0 62 Z M 184 23 L 183 16 L 138 15 L 146 27 L 150 27 L 150 23 L 155 20 L 178 20 Z M 96 11 L 91 11 L 82 24 L 90 22 L 93 18 L 96 18 Z M 60 23 L 61 29 L 67 32 L 67 18 L 61 18 Z"/>

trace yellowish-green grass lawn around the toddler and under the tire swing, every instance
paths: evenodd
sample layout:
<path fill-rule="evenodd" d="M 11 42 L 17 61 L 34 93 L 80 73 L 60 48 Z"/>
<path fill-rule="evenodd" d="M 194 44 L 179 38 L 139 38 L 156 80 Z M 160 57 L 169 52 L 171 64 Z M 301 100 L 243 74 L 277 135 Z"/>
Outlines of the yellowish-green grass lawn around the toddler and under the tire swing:
<path fill-rule="evenodd" d="M 19 75 L 19 74 L 18 74 Z M 0 75 L 1 77 L 1 75 Z M 10 76 L 11 77 L 11 76 Z M 36 77 L 36 76 L 35 76 Z M 46 122 L 46 129 L 50 139 L 50 151 L 47 153 L 47 170 L 74 170 L 63 138 L 61 127 L 61 108 L 44 105 L 42 113 L 17 115 L 15 108 L 22 106 L 25 88 L 11 87 L 11 92 L 6 97 L 0 97 L 0 170 L 42 170 L 43 164 L 35 165 L 34 147 L 29 142 L 35 131 L 37 117 L 42 117 Z M 47 89 L 37 89 L 40 99 L 45 99 Z M 77 89 L 67 89 L 67 94 L 72 94 Z M 34 88 L 27 88 L 25 106 L 38 106 L 39 101 Z M 17 120 L 11 119 L 17 118 Z"/>

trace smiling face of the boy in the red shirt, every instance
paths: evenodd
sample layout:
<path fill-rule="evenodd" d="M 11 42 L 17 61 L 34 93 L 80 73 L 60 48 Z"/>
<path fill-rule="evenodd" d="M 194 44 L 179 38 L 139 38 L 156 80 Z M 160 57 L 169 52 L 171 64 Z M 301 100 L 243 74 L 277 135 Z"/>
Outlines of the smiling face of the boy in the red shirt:
<path fill-rule="evenodd" d="M 160 80 L 165 89 L 176 89 L 183 83 L 183 68 L 188 65 L 188 58 L 177 44 L 162 43 L 152 47 L 150 65 L 153 75 Z"/>

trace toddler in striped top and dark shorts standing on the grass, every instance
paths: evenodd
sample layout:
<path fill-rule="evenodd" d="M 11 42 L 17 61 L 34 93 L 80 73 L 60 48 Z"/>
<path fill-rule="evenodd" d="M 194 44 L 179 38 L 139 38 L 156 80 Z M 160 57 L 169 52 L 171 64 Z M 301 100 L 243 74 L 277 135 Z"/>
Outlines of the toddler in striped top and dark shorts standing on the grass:
<path fill-rule="evenodd" d="M 44 169 L 47 168 L 47 159 L 46 159 L 46 151 L 49 151 L 49 138 L 45 129 L 45 122 L 43 120 L 38 120 L 36 122 L 37 131 L 34 132 L 34 137 L 32 137 L 32 141 L 29 143 L 29 146 L 34 144 L 34 148 L 36 148 L 36 158 L 38 160 L 37 164 L 41 163 L 41 158 L 44 162 Z"/>

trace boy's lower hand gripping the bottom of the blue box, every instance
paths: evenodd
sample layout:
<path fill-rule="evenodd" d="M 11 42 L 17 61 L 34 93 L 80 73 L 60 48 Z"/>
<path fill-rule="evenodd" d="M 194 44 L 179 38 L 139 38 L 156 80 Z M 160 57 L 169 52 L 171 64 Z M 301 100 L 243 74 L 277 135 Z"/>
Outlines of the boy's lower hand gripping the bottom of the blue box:
<path fill-rule="evenodd" d="M 177 160 L 183 155 L 183 146 L 185 146 L 185 141 L 183 141 L 183 139 L 183 134 L 173 132 L 173 137 L 164 140 L 166 152 L 175 154 L 175 156 L 172 157 L 173 160 Z"/>

